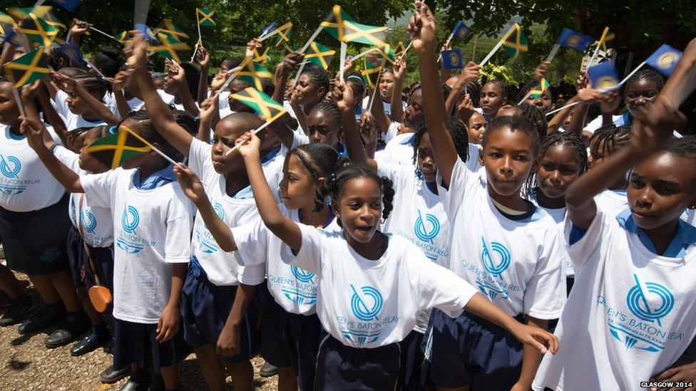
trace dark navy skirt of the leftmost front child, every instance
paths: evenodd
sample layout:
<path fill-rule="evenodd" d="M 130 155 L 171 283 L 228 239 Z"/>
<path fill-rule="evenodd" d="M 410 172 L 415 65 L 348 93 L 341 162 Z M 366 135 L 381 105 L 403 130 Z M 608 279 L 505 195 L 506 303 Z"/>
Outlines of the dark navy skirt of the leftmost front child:
<path fill-rule="evenodd" d="M 50 207 L 11 212 L 0 207 L 0 237 L 7 267 L 27 274 L 53 274 L 70 267 L 66 241 L 72 226 L 66 193 Z"/>

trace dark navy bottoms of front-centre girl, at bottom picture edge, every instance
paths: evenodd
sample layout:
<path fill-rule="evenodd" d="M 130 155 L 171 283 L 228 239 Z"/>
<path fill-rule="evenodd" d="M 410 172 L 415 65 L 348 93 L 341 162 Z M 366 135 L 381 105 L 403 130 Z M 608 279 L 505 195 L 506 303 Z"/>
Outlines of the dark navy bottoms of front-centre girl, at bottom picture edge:
<path fill-rule="evenodd" d="M 398 343 L 351 348 L 322 330 L 314 390 L 395 390 L 399 385 Z"/>

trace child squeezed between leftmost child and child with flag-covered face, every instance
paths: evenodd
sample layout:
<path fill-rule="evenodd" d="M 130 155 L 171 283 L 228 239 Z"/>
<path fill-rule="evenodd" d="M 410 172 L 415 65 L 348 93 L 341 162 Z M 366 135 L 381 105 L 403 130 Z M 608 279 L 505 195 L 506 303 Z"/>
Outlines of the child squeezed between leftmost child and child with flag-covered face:
<path fill-rule="evenodd" d="M 40 148 L 52 150 L 56 158 L 73 172 L 81 175 L 101 173 L 108 171 L 109 167 L 83 151 L 92 142 L 108 135 L 108 129 L 108 126 L 99 126 L 86 130 L 81 144 L 74 148 L 79 154 L 56 145 L 46 132 L 43 133 L 43 140 L 30 138 L 29 142 L 31 147 L 41 145 Z M 41 135 L 28 132 L 27 136 Z M 101 285 L 113 291 L 113 221 L 111 209 L 89 207 L 84 194 L 70 194 L 69 215 L 73 226 L 68 231 L 68 260 L 78 296 L 92 323 L 92 333 L 70 350 L 71 355 L 78 356 L 91 352 L 110 338 L 104 318 L 92 306 L 87 290 L 96 285 L 98 278 Z M 53 340 L 51 347 L 66 342 L 65 339 Z"/>

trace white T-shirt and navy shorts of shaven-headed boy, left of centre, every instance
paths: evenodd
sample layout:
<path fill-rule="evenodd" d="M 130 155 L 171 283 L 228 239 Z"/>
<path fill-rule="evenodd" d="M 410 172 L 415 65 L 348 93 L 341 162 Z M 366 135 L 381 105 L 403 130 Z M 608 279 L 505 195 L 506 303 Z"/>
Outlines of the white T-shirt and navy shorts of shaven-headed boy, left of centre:
<path fill-rule="evenodd" d="M 206 142 L 192 140 L 188 154 L 190 169 L 200 177 L 215 212 L 227 226 L 251 224 L 258 217 L 251 188 L 242 189 L 233 197 L 228 196 L 225 177 L 215 172 L 210 160 L 212 149 L 213 146 Z M 196 214 L 190 244 L 192 256 L 183 288 L 182 323 L 186 342 L 196 349 L 218 343 L 232 310 L 237 287 L 240 283 L 250 286 L 262 283 L 265 270 L 263 265 L 240 266 L 243 261 L 236 261 L 240 256 L 237 252 L 222 251 L 200 214 Z M 255 325 L 258 311 L 259 300 L 255 296 L 242 320 L 242 353 L 230 358 L 222 357 L 222 360 L 240 363 L 257 352 L 259 336 Z"/>

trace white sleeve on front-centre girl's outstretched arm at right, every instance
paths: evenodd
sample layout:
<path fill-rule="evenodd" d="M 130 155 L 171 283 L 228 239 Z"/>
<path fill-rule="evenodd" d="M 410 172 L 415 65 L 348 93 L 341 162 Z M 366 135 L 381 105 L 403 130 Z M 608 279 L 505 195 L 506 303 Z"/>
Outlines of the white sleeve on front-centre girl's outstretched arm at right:
<path fill-rule="evenodd" d="M 414 249 L 406 253 L 406 256 L 414 257 L 412 261 L 419 262 L 421 266 L 418 278 L 420 311 L 438 308 L 441 311 L 456 313 L 476 294 L 474 286 L 453 271 L 429 261 L 420 251 Z"/>

